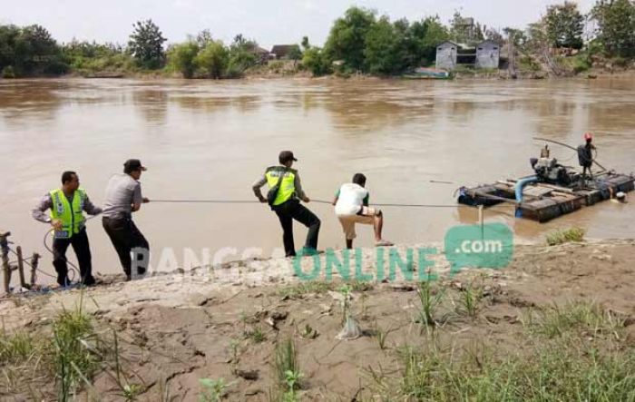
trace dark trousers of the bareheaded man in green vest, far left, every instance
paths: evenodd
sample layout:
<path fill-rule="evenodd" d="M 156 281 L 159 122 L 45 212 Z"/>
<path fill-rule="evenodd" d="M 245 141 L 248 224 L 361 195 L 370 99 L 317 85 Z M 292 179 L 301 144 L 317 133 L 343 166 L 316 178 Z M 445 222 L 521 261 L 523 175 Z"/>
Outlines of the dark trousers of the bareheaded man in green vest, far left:
<path fill-rule="evenodd" d="M 93 264 L 91 262 L 91 247 L 88 243 L 88 235 L 86 229 L 80 230 L 79 233 L 73 234 L 70 239 L 54 239 L 53 240 L 53 266 L 57 272 L 57 283 L 61 286 L 70 284 L 68 280 L 68 264 L 66 263 L 66 250 L 68 246 L 73 246 L 77 262 L 80 268 L 80 281 L 84 285 L 93 285 Z"/>

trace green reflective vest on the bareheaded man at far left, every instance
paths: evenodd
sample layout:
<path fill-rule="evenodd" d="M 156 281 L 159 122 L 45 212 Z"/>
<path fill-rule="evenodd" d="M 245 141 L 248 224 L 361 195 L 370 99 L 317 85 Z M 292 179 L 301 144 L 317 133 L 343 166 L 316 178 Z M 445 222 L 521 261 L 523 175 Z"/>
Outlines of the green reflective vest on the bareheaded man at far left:
<path fill-rule="evenodd" d="M 73 194 L 73 202 L 69 202 L 61 189 L 50 191 L 53 206 L 51 208 L 51 219 L 62 221 L 62 230 L 55 230 L 55 239 L 70 239 L 73 234 L 79 233 L 83 229 L 83 202 L 86 200 L 86 191 L 78 189 Z"/>

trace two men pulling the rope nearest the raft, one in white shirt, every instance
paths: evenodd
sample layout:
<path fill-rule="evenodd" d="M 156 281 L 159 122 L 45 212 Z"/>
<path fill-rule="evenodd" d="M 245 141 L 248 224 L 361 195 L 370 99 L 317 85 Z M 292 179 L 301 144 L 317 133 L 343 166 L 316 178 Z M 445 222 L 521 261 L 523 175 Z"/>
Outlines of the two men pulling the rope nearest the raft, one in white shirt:
<path fill-rule="evenodd" d="M 293 240 L 293 221 L 296 220 L 308 228 L 307 241 L 301 250 L 302 255 L 313 255 L 318 252 L 318 234 L 321 221 L 300 201 L 310 202 L 307 194 L 302 190 L 298 171 L 291 169 L 293 162 L 298 159 L 293 152 L 283 151 L 278 155 L 278 166 L 270 166 L 259 179 L 254 182 L 252 190 L 260 202 L 269 203 L 271 210 L 276 212 L 280 226 L 282 226 L 282 240 L 287 257 L 296 256 Z M 269 186 L 268 197 L 262 195 L 262 186 Z M 333 205 L 339 222 L 346 237 L 347 248 L 353 247 L 353 240 L 357 237 L 355 224 L 373 225 L 376 246 L 392 246 L 393 243 L 382 239 L 384 215 L 382 211 L 368 206 L 369 193 L 365 188 L 366 176 L 356 173 L 350 183 L 343 184 L 337 191 Z M 273 192 L 271 192 L 273 191 Z"/>

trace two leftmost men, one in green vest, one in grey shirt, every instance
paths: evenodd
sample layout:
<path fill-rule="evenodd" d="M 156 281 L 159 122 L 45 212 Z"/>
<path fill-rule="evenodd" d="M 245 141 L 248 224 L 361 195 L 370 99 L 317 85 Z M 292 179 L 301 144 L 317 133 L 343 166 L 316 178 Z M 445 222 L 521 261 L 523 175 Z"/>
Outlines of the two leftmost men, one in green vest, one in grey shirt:
<path fill-rule="evenodd" d="M 79 263 L 79 283 L 84 286 L 95 284 L 84 211 L 93 216 L 100 213 L 103 215 L 103 229 L 119 256 L 126 279 L 145 273 L 150 246 L 132 221 L 132 212 L 139 211 L 142 203 L 149 202 L 142 197 L 139 182 L 145 171 L 146 168 L 138 159 L 126 161 L 123 172 L 113 175 L 108 182 L 103 208 L 95 206 L 86 191 L 80 188 L 76 172 L 64 172 L 62 188 L 49 191 L 34 208 L 34 219 L 53 227 L 53 265 L 59 286 L 67 287 L 71 284 L 66 260 L 69 246 L 73 246 Z M 132 272 L 132 259 L 136 260 L 135 272 Z"/>

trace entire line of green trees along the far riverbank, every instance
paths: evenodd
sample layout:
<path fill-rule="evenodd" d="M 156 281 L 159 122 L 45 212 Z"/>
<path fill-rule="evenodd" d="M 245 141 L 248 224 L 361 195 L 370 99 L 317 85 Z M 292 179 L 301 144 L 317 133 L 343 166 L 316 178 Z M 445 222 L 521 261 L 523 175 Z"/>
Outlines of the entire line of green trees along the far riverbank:
<path fill-rule="evenodd" d="M 544 16 L 523 29 L 502 31 L 470 21 L 456 12 L 444 24 L 438 16 L 410 22 L 350 7 L 333 23 L 322 47 L 303 37 L 288 58 L 314 75 L 365 73 L 396 75 L 435 63 L 436 45 L 445 40 L 475 44 L 490 39 L 513 44 L 532 62 L 532 54 L 552 49 L 582 49 L 623 60 L 635 56 L 635 0 L 597 0 L 587 15 L 577 4 L 551 5 Z M 585 28 L 591 41 L 585 37 Z M 128 44 L 78 42 L 58 44 L 40 25 L 0 25 L 0 74 L 5 78 L 69 72 L 178 72 L 185 78 L 235 78 L 263 62 L 255 40 L 242 34 L 230 44 L 209 30 L 166 47 L 167 39 L 151 20 L 133 25 Z"/>

